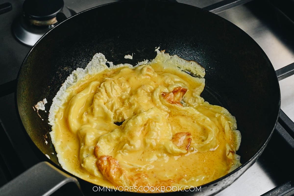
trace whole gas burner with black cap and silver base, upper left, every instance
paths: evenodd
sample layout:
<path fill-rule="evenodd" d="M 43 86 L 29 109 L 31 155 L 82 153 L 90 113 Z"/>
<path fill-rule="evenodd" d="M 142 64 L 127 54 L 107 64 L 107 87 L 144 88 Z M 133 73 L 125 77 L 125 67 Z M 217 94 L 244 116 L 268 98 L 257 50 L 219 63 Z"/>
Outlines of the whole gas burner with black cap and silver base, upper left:
<path fill-rule="evenodd" d="M 47 31 L 58 24 L 56 14 L 62 12 L 67 18 L 76 14 L 64 7 L 63 0 L 25 0 L 23 15 L 14 21 L 14 36 L 33 46 Z"/>

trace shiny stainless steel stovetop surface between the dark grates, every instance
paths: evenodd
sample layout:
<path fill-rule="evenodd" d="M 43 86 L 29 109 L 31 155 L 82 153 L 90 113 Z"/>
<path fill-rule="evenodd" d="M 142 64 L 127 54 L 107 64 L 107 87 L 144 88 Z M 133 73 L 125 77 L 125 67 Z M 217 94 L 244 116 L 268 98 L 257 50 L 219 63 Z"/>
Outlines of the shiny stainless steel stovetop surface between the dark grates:
<path fill-rule="evenodd" d="M 7 1 L 0 0 L 0 4 Z M 64 3 L 69 9 L 78 13 L 85 9 L 114 1 L 116 0 L 64 0 Z M 177 1 L 203 8 L 220 0 Z M 21 14 L 23 1 L 10 0 L 9 2 L 12 4 L 12 11 L 0 15 L 0 84 L 17 77 L 21 63 L 31 48 L 16 41 L 11 33 L 11 25 Z M 287 23 L 281 22 L 283 18 L 273 12 L 273 8 L 268 1 L 252 1 L 225 10 L 218 15 L 248 33 L 265 51 L 275 70 L 294 62 L 294 28 L 288 28 Z M 294 120 L 293 87 L 294 76 L 280 81 L 281 109 L 291 120 Z M 14 170 L 13 166 L 10 168 L 11 177 L 13 178 L 40 160 L 30 147 L 26 134 L 22 130 L 15 106 L 14 93 L 0 97 L 0 119 L 7 135 L 6 140 L 9 140 L 15 150 L 15 154 L 11 156 L 18 157 L 20 161 L 18 170 Z M 0 145 L 0 152 L 3 150 Z M 256 163 L 218 195 L 262 195 L 288 182 L 293 178 L 293 164 L 291 164 L 291 155 L 289 154 L 291 152 L 293 153 L 293 147 L 288 145 L 275 131 L 268 147 Z M 4 161 L 9 162 L 9 158 Z M 4 182 L 5 180 L 0 181 L 2 184 Z"/>

